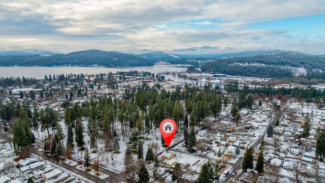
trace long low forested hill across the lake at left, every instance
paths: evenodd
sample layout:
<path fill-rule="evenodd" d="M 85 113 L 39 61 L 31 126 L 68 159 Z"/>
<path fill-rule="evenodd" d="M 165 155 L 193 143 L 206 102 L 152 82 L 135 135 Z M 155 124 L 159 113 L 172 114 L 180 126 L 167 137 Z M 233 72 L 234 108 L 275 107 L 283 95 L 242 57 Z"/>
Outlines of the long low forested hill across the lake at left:
<path fill-rule="evenodd" d="M 85 50 L 69 54 L 1 56 L 0 66 L 152 66 L 150 59 L 114 51 Z"/>

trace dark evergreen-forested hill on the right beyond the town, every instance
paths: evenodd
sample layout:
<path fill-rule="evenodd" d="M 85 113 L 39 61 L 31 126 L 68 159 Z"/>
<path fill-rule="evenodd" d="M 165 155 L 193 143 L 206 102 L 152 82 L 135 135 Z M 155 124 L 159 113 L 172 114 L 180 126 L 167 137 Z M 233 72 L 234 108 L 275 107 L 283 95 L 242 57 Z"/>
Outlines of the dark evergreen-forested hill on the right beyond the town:
<path fill-rule="evenodd" d="M 257 65 L 236 65 L 234 63 L 260 63 Z M 274 54 L 217 59 L 202 66 L 203 72 L 223 73 L 251 77 L 294 77 L 290 67 L 306 68 L 307 79 L 323 79 L 325 73 L 313 72 L 313 69 L 325 70 L 325 56 L 307 55 L 297 52 L 282 51 Z"/>

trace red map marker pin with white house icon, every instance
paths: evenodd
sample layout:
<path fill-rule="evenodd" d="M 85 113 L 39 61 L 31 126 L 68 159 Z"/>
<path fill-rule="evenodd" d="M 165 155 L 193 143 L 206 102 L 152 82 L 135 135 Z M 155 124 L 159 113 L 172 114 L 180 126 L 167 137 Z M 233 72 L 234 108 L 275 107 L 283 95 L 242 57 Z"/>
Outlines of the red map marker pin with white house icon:
<path fill-rule="evenodd" d="M 169 146 L 176 133 L 177 125 L 173 119 L 164 119 L 160 122 L 160 133 L 163 136 L 166 145 Z"/>

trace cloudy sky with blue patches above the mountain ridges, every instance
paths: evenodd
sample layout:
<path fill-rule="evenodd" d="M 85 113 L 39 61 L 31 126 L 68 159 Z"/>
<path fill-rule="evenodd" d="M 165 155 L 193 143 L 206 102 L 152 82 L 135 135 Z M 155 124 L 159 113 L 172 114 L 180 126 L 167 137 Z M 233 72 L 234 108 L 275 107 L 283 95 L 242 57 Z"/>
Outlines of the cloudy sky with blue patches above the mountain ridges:
<path fill-rule="evenodd" d="M 0 51 L 218 47 L 325 54 L 323 0 L 1 0 Z"/>

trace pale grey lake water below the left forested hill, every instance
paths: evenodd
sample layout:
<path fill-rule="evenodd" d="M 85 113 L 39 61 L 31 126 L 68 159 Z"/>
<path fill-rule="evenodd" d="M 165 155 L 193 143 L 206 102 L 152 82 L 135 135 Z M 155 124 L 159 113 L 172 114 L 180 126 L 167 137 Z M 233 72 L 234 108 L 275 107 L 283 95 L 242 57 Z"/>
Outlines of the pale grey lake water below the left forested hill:
<path fill-rule="evenodd" d="M 150 66 L 150 67 L 128 67 L 128 68 L 105 68 L 105 67 L 0 67 L 0 77 L 29 77 L 44 79 L 45 75 L 50 74 L 99 74 L 99 73 L 116 73 L 117 71 L 147 71 L 154 74 L 164 72 L 182 72 L 187 67 L 174 66 Z"/>

